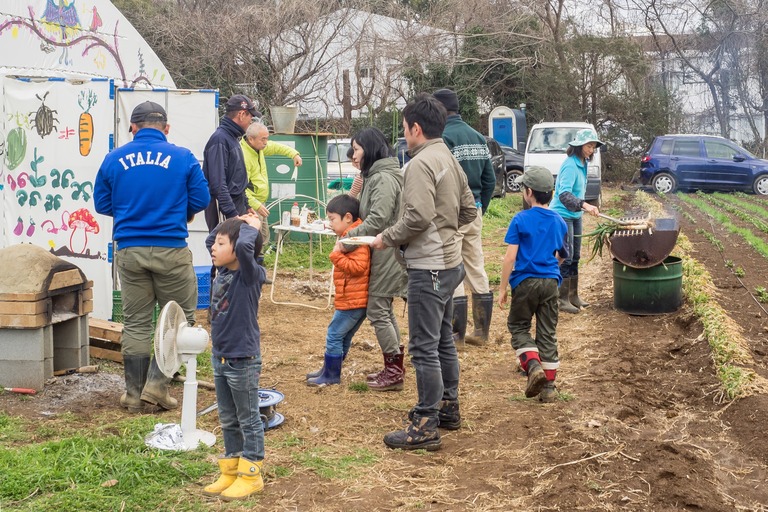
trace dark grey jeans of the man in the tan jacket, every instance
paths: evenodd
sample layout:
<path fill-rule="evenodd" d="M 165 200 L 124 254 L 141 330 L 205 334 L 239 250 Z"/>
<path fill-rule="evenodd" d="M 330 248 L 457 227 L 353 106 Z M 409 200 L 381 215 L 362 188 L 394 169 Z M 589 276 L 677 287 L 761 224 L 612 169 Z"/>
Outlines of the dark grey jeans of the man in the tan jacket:
<path fill-rule="evenodd" d="M 447 270 L 408 270 L 408 353 L 419 401 L 414 412 L 437 418 L 440 400 L 459 396 L 459 358 L 453 343 L 453 291 L 464 265 Z"/>

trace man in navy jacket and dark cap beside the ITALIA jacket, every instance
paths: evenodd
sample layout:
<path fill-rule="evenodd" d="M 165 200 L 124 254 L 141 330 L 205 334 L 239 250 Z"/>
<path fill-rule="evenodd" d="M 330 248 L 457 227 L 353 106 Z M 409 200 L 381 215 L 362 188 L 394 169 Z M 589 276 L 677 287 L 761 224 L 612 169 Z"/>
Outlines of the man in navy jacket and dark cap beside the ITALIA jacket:
<path fill-rule="evenodd" d="M 205 209 L 205 222 L 212 231 L 219 221 L 243 215 L 248 209 L 245 170 L 240 139 L 253 121 L 260 118 L 250 98 L 235 94 L 227 100 L 226 114 L 213 132 L 203 152 L 203 174 L 208 180 L 211 203 Z"/>

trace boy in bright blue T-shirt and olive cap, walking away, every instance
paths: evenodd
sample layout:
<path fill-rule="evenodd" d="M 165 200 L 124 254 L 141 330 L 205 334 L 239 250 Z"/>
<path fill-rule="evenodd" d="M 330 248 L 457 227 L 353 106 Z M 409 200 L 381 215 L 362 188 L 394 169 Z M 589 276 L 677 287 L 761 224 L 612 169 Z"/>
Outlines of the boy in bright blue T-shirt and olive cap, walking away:
<path fill-rule="evenodd" d="M 559 265 L 568 256 L 568 228 L 560 215 L 547 208 L 555 185 L 549 170 L 532 167 L 515 182 L 523 185 L 523 199 L 531 208 L 514 216 L 504 237 L 509 245 L 501 267 L 499 306 L 503 308 L 507 303 L 511 288 L 507 329 L 512 334 L 512 348 L 520 366 L 528 374 L 525 396 L 553 402 L 557 398 L 555 377 L 560 366 L 556 336 Z M 530 332 L 534 316 L 535 339 Z"/>

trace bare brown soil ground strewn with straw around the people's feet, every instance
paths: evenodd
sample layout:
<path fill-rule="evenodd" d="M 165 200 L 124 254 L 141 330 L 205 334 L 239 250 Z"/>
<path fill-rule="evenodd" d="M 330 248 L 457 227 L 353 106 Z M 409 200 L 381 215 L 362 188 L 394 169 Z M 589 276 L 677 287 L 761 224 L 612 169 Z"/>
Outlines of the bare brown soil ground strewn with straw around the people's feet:
<path fill-rule="evenodd" d="M 608 199 L 619 194 L 625 193 L 613 191 Z M 766 261 L 732 235 L 715 232 L 724 242 L 721 254 L 696 232 L 710 229 L 706 216 L 680 208 L 695 220 L 681 218 L 692 256 L 706 265 L 718 301 L 743 330 L 753 369 L 768 377 L 766 305 L 749 293 L 768 285 Z M 497 257 L 503 246 L 503 232 L 496 233 L 485 241 L 487 257 Z M 746 271 L 746 288 L 727 260 Z M 608 257 L 584 265 L 582 297 L 592 305 L 561 315 L 561 400 L 553 404 L 523 398 L 525 378 L 517 371 L 506 312 L 497 307 L 492 341 L 460 353 L 462 428 L 442 432 L 443 446 L 432 453 L 392 451 L 382 443 L 385 433 L 402 427 L 416 385 L 410 368 L 402 392 L 354 385 L 381 364 L 369 326 L 355 338 L 342 384 L 308 388 L 304 376 L 321 364 L 331 312 L 274 305 L 265 288 L 262 387 L 286 396 L 278 406 L 285 423 L 266 434 L 265 492 L 227 505 L 202 495 L 206 480 L 190 484 L 187 499 L 210 510 L 767 510 L 768 397 L 723 400 L 690 306 L 658 316 L 621 313 L 613 307 L 611 275 Z M 407 333 L 404 312 L 398 303 Z M 77 395 L 88 382 L 93 389 Z M 0 395 L 0 410 L 40 421 L 66 410 L 73 422 L 103 423 L 127 414 L 117 406 L 120 393 L 120 378 L 74 375 L 32 399 Z M 181 387 L 173 393 L 181 398 Z M 200 408 L 213 401 L 213 392 L 200 390 Z M 159 419 L 178 421 L 177 413 Z M 199 425 L 220 434 L 215 413 Z M 213 463 L 215 455 L 208 457 Z M 179 505 L 174 509 L 183 509 Z"/>

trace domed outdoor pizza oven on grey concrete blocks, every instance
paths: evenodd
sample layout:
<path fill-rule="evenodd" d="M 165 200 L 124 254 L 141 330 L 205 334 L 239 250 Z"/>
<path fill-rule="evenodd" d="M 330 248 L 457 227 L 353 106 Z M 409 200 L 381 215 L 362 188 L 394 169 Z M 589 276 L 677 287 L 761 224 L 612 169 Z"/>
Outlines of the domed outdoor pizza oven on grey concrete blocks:
<path fill-rule="evenodd" d="M 73 263 L 20 244 L 0 249 L 0 386 L 42 390 L 88 364 L 93 282 Z"/>

